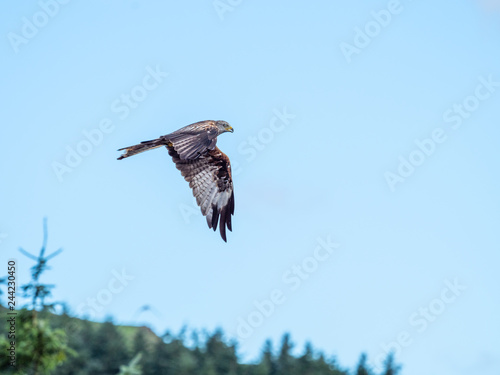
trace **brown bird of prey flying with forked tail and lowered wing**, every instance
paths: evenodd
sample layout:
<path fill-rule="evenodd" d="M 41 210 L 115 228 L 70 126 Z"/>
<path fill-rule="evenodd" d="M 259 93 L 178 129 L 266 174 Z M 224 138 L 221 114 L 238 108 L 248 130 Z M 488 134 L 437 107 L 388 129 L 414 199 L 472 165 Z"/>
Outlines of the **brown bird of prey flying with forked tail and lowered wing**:
<path fill-rule="evenodd" d="M 226 240 L 226 226 L 231 228 L 234 192 L 229 158 L 216 146 L 217 136 L 233 132 L 226 121 L 200 121 L 152 141 L 119 149 L 125 152 L 118 160 L 165 146 L 175 166 L 193 189 L 193 195 L 207 217 L 209 228 L 217 229 Z M 219 220 L 220 219 L 220 220 Z"/>

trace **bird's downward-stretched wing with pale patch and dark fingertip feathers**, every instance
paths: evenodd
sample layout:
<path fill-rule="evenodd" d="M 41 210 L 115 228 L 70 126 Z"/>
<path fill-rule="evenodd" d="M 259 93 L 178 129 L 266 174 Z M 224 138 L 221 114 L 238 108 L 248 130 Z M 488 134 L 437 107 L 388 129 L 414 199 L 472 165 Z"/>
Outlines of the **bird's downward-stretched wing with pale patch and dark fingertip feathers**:
<path fill-rule="evenodd" d="M 208 227 L 215 231 L 219 224 L 220 235 L 227 241 L 226 227 L 232 231 L 231 215 L 234 214 L 233 179 L 229 158 L 218 147 L 196 159 L 180 157 L 175 144 L 167 145 L 167 149 L 175 166 L 193 189 L 201 213 L 207 217 Z"/>

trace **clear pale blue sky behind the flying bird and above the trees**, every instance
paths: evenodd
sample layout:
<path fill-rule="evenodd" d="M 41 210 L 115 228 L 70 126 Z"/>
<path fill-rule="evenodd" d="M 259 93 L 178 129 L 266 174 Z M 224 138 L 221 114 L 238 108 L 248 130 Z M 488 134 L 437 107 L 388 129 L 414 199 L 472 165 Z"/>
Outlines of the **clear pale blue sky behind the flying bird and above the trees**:
<path fill-rule="evenodd" d="M 0 267 L 27 282 L 47 216 L 82 316 L 497 375 L 499 2 L 228 4 L 4 4 Z M 227 244 L 165 150 L 116 160 L 206 119 L 235 129 Z"/>

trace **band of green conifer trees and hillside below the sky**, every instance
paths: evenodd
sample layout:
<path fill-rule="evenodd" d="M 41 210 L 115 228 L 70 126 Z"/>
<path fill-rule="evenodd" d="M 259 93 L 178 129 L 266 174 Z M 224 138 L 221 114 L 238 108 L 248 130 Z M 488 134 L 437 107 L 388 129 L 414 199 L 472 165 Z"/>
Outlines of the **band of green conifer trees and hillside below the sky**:
<path fill-rule="evenodd" d="M 47 262 L 60 250 L 45 256 L 47 228 L 38 256 L 20 251 L 36 264 L 31 280 L 22 286 L 30 301 L 16 316 L 16 368 L 9 357 L 0 356 L 3 375 L 348 375 L 335 358 L 327 358 L 306 343 L 302 354 L 293 354 L 290 334 L 283 335 L 275 352 L 270 340 L 263 346 L 257 363 L 241 364 L 237 344 L 228 341 L 221 329 L 213 333 L 166 332 L 158 337 L 147 327 L 119 326 L 111 319 L 103 323 L 72 317 L 63 306 L 53 313 L 56 304 L 47 303 L 53 285 L 41 282 L 49 269 Z M 2 278 L 0 284 L 5 282 Z M 0 312 L 7 311 L 0 305 Z M 3 315 L 3 314 L 2 314 Z M 0 324 L 0 353 L 9 352 L 6 320 Z M 200 336 L 204 338 L 201 339 Z M 188 344 L 189 343 L 189 344 Z M 400 366 L 389 355 L 380 375 L 399 375 Z M 362 354 L 354 375 L 375 375 Z"/>

